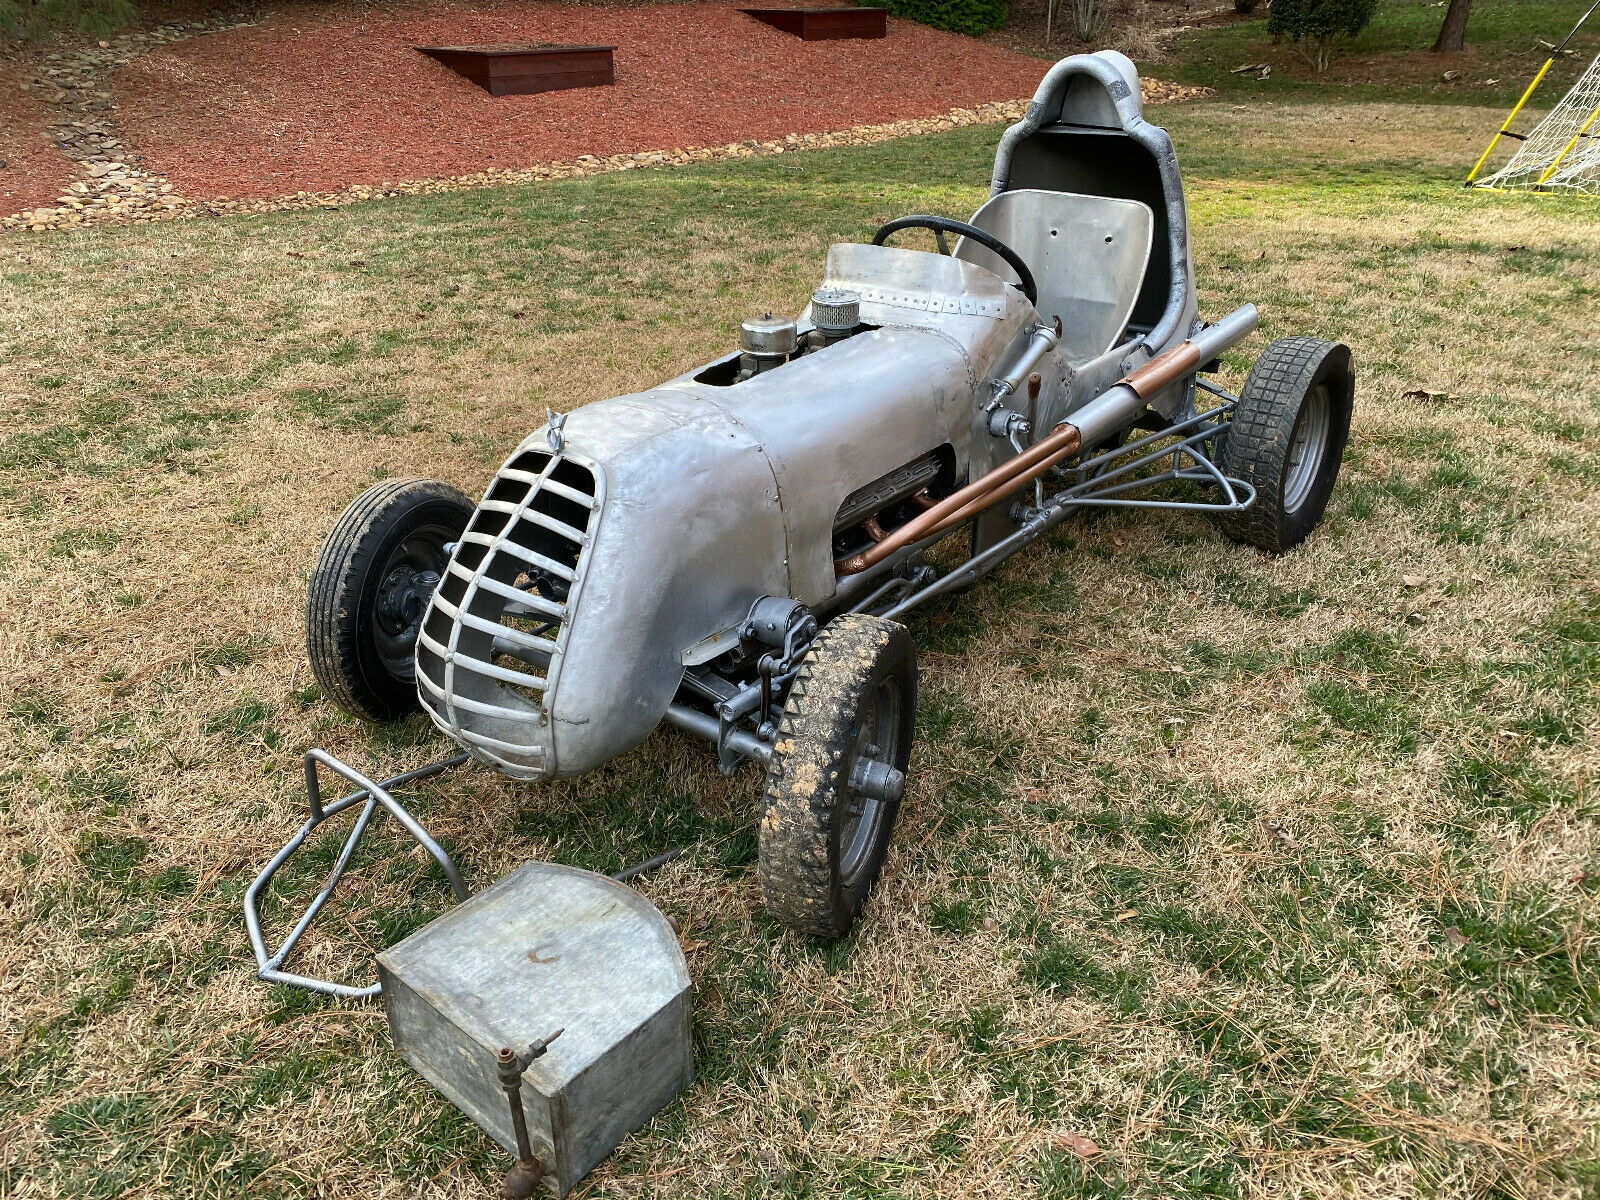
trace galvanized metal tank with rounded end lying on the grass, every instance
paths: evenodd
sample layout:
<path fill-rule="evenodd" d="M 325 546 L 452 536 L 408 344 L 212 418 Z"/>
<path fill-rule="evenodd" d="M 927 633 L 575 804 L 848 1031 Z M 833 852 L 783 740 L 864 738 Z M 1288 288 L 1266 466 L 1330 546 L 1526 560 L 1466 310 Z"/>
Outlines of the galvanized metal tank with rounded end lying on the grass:
<path fill-rule="evenodd" d="M 694 1075 L 690 973 L 667 918 L 632 888 L 530 862 L 378 955 L 395 1050 L 506 1150 L 501 1046 L 565 1030 L 522 1101 L 557 1195 Z"/>

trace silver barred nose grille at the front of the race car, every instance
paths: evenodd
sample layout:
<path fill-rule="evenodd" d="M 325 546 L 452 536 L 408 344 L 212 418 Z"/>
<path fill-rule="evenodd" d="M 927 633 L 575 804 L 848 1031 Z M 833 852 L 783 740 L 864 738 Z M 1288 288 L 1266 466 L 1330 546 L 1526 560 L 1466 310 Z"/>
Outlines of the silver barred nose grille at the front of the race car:
<path fill-rule="evenodd" d="M 418 634 L 418 696 L 429 715 L 518 779 L 554 770 L 549 698 L 600 501 L 592 464 L 518 453 L 478 504 Z"/>

